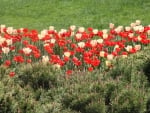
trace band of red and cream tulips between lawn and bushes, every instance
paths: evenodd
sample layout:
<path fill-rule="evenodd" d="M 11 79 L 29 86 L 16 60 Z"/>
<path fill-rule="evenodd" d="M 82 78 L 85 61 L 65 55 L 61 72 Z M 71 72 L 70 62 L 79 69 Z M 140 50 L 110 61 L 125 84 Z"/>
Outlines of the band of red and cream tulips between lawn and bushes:
<path fill-rule="evenodd" d="M 141 50 L 150 44 L 149 37 L 150 25 L 142 26 L 140 20 L 126 27 L 110 23 L 109 29 L 103 30 L 72 25 L 38 32 L 0 25 L 0 65 L 15 68 L 20 63 L 40 62 L 62 68 L 68 75 L 73 70 L 93 71 L 112 67 L 113 59 Z"/>

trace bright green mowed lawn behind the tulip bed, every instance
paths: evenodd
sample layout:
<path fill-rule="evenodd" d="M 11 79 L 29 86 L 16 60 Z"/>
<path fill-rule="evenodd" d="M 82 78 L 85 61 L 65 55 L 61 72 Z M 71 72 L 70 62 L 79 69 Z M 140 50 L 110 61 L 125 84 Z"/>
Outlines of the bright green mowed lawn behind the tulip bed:
<path fill-rule="evenodd" d="M 108 28 L 110 22 L 150 24 L 150 0 L 0 0 L 0 24 L 42 30 L 77 26 Z"/>

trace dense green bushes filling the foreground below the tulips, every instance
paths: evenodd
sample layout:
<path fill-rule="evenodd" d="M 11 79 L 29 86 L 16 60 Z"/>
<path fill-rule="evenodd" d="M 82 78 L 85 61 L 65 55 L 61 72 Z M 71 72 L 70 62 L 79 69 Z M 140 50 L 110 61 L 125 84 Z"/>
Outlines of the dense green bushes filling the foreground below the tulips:
<path fill-rule="evenodd" d="M 0 113 L 149 113 L 149 48 L 116 59 L 112 69 L 69 78 L 39 64 L 20 65 L 10 78 L 1 66 Z"/>

